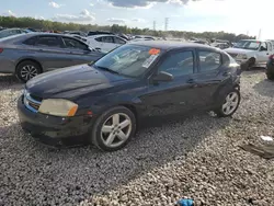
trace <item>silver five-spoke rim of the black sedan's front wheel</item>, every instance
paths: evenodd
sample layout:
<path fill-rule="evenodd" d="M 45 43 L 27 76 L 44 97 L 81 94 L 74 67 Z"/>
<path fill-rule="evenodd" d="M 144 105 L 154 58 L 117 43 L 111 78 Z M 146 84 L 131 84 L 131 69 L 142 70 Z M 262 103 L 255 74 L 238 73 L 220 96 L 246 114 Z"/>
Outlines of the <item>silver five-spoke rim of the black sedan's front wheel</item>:
<path fill-rule="evenodd" d="M 107 147 L 118 147 L 130 136 L 132 121 L 124 113 L 114 114 L 109 117 L 101 129 L 101 138 Z"/>

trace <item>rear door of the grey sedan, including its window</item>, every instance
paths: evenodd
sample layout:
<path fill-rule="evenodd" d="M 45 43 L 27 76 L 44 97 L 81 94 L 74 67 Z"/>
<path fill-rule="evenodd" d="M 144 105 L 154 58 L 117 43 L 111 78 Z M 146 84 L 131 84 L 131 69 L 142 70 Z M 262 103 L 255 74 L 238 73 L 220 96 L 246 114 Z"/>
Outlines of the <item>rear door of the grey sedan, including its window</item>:
<path fill-rule="evenodd" d="M 41 35 L 35 43 L 36 58 L 45 70 L 64 68 L 73 65 L 68 53 L 61 47 L 58 35 Z"/>

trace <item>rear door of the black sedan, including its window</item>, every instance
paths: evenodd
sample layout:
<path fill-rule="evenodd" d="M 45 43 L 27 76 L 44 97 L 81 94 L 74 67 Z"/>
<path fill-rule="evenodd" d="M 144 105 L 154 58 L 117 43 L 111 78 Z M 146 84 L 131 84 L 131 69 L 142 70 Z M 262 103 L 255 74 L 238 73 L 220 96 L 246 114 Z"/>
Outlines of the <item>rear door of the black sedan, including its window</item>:
<path fill-rule="evenodd" d="M 221 81 L 226 78 L 220 72 L 222 67 L 222 55 L 212 49 L 196 49 L 198 72 L 195 73 L 196 101 L 195 106 L 204 108 L 210 106 L 214 94 Z"/>

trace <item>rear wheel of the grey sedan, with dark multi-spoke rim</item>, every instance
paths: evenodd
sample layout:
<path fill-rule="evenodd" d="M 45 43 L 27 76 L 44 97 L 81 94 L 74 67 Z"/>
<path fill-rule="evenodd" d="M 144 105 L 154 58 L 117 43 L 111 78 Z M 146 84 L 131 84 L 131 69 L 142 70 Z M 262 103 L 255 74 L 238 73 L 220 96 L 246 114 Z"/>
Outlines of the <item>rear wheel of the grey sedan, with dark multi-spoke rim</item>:
<path fill-rule="evenodd" d="M 15 72 L 18 79 L 24 83 L 39 73 L 42 73 L 41 66 L 32 60 L 25 60 L 20 62 L 16 67 Z"/>

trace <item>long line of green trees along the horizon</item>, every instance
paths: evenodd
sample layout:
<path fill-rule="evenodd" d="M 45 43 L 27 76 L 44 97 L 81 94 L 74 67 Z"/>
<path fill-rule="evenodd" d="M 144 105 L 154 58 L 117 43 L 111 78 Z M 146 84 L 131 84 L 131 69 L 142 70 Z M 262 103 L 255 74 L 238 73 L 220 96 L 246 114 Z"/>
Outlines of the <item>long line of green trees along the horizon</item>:
<path fill-rule="evenodd" d="M 149 28 L 138 28 L 138 27 L 127 27 L 118 24 L 110 25 L 91 25 L 91 24 L 76 24 L 76 23 L 61 23 L 53 22 L 48 20 L 35 20 L 33 18 L 13 18 L 13 16 L 0 16 L 0 26 L 3 27 L 32 27 L 43 31 L 111 31 L 113 33 L 125 33 L 125 34 L 135 34 L 135 35 L 152 35 L 159 37 L 176 37 L 189 39 L 191 37 L 204 38 L 204 39 L 227 39 L 230 42 L 238 42 L 244 38 L 255 38 L 255 36 L 247 36 L 243 34 L 236 35 L 232 33 L 225 32 L 184 32 L 184 31 L 152 31 Z"/>

